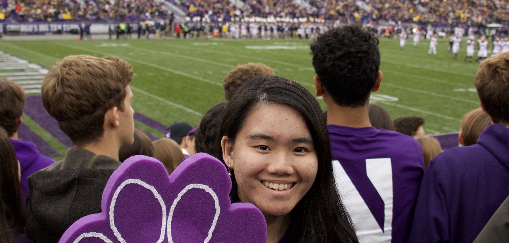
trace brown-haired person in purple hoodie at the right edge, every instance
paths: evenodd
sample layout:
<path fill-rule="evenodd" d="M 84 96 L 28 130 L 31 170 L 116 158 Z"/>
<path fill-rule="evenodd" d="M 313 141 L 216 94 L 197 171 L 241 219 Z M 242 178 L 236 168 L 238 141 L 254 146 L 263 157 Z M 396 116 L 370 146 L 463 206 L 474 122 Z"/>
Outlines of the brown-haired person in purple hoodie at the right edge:
<path fill-rule="evenodd" d="M 509 195 L 509 52 L 479 65 L 475 87 L 493 124 L 430 162 L 408 242 L 472 242 Z"/>

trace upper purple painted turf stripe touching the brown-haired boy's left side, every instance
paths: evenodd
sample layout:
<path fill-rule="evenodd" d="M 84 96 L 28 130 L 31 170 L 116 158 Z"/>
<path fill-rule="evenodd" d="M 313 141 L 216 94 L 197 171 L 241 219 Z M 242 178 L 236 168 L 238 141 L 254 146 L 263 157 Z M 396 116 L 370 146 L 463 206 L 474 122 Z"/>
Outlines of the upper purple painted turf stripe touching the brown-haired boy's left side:
<path fill-rule="evenodd" d="M 48 114 L 46 109 L 44 109 L 40 96 L 26 97 L 23 112 L 51 134 L 51 136 L 56 138 L 56 140 L 59 140 L 59 142 L 63 143 L 67 147 L 72 147 L 72 142 L 69 137 L 60 130 L 58 124 L 56 124 L 56 120 Z"/>

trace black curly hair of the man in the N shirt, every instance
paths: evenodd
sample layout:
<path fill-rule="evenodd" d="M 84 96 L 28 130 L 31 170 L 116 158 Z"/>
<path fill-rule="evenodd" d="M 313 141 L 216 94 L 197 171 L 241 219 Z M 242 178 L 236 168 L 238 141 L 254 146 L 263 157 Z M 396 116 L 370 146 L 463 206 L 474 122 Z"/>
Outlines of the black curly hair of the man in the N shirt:
<path fill-rule="evenodd" d="M 311 44 L 324 91 L 340 106 L 365 105 L 380 69 L 378 39 L 357 25 L 332 28 Z"/>

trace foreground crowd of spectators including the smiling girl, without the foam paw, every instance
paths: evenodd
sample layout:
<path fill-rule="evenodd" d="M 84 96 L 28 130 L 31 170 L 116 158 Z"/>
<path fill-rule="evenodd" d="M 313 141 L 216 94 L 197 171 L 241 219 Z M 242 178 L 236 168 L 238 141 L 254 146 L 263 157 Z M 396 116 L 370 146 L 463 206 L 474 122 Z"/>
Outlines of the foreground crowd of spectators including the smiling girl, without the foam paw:
<path fill-rule="evenodd" d="M 392 121 L 370 104 L 383 79 L 371 32 L 332 28 L 311 53 L 326 113 L 297 82 L 250 63 L 228 73 L 226 101 L 198 127 L 175 123 L 154 142 L 134 129 L 129 63 L 67 56 L 50 68 L 41 96 L 74 146 L 49 166 L 37 151 L 36 160 L 18 156 L 17 163 L 12 144 L 21 142 L 24 95 L 0 81 L 0 125 L 7 131 L 0 129 L 0 241 L 57 242 L 73 222 L 101 211 L 109 176 L 131 155 L 153 156 L 169 174 L 184 157 L 208 153 L 231 176 L 231 201 L 262 211 L 267 242 L 505 242 L 509 53 L 479 66 L 480 108 L 462 120 L 465 146 L 434 159 L 426 155 L 433 146 L 425 145 L 422 118 Z M 32 169 L 25 171 L 27 164 Z"/>

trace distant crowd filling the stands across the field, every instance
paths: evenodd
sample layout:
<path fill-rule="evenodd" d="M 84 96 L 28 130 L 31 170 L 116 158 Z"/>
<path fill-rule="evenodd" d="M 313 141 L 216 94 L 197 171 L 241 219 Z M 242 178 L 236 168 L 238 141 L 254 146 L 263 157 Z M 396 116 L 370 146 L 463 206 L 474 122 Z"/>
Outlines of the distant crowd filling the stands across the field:
<path fill-rule="evenodd" d="M 237 2 L 241 3 L 236 4 Z M 257 17 L 284 22 L 340 21 L 342 23 L 509 24 L 507 1 L 369 0 L 172 0 L 192 21 L 251 21 Z M 243 6 L 243 7 L 239 7 Z M 0 19 L 18 21 L 143 20 L 168 18 L 166 6 L 155 0 L 2 0 Z M 196 19 L 197 18 L 197 19 Z"/>

